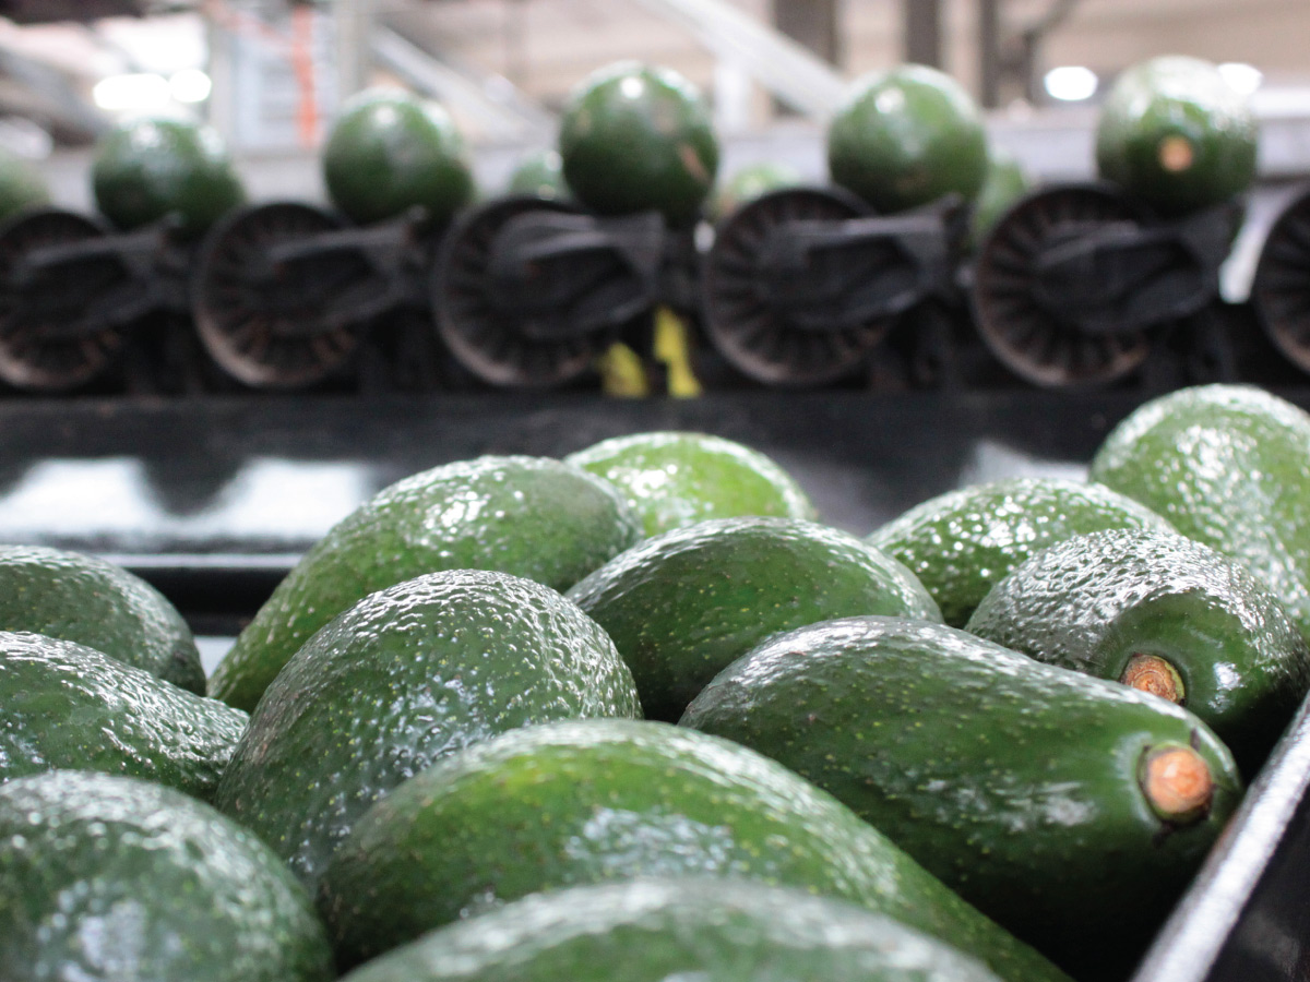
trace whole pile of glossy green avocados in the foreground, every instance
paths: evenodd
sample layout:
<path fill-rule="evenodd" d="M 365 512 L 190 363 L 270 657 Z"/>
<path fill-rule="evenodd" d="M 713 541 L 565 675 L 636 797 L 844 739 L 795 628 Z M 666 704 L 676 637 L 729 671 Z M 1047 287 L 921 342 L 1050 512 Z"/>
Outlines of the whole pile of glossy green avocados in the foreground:
<path fill-rule="evenodd" d="M 1229 385 L 865 538 L 705 433 L 456 461 L 208 680 L 0 549 L 4 977 L 1123 982 L 1310 690 L 1307 500 Z"/>

